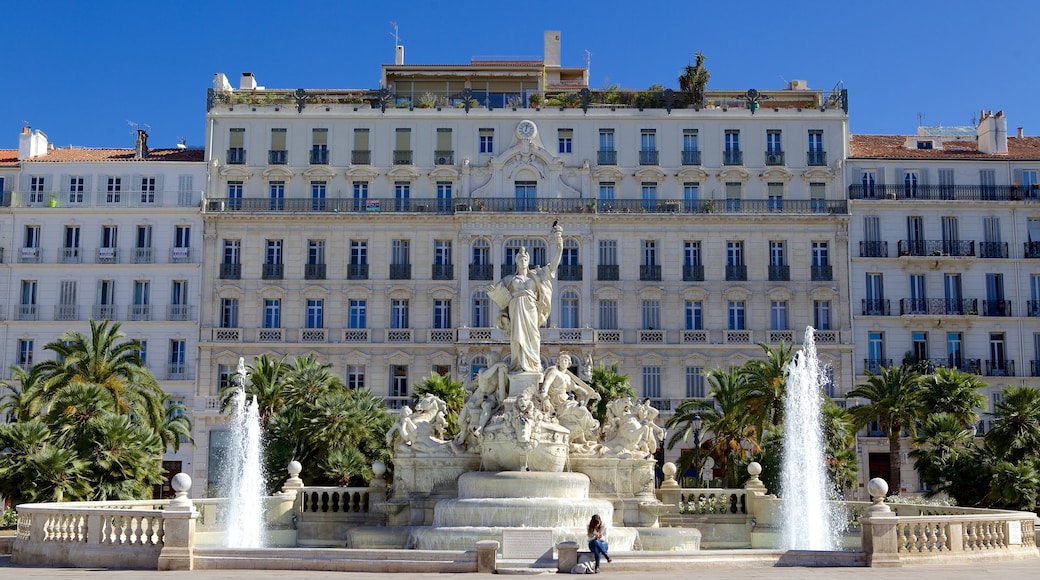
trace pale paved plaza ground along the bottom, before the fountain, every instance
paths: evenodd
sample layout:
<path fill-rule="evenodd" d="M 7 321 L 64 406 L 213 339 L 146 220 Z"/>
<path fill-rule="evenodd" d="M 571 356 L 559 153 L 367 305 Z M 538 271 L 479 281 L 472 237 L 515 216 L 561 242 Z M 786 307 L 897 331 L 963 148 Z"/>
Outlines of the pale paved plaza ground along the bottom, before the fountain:
<path fill-rule="evenodd" d="M 155 579 L 155 580 L 239 580 L 266 576 L 278 580 L 383 580 L 387 577 L 405 575 L 376 573 L 344 573 L 344 572 L 292 572 L 292 571 L 250 571 L 222 570 L 197 572 L 142 572 L 139 570 L 101 570 L 101 569 L 54 569 L 54 568 L 19 568 L 12 566 L 10 556 L 0 557 L 0 578 L 11 580 L 22 578 L 95 578 L 95 579 Z M 441 579 L 449 576 L 475 578 L 477 574 L 409 574 L 410 580 Z M 1013 562 L 980 562 L 955 566 L 910 566 L 900 569 L 869 568 L 690 568 L 670 572 L 614 572 L 609 564 L 603 565 L 600 577 L 625 580 L 854 580 L 860 578 L 885 580 L 978 580 L 979 578 L 999 578 L 1000 580 L 1017 580 L 1019 578 L 1040 578 L 1040 558 Z"/>

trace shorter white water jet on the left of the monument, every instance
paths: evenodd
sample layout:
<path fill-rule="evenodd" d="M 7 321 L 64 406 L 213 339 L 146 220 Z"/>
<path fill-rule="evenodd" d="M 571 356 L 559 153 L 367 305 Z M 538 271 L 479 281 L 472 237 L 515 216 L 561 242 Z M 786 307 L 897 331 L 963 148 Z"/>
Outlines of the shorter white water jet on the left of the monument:
<path fill-rule="evenodd" d="M 245 362 L 238 359 L 232 399 L 230 441 L 225 457 L 222 494 L 228 498 L 226 548 L 262 548 L 264 534 L 264 473 L 260 413 L 256 396 L 245 397 Z"/>

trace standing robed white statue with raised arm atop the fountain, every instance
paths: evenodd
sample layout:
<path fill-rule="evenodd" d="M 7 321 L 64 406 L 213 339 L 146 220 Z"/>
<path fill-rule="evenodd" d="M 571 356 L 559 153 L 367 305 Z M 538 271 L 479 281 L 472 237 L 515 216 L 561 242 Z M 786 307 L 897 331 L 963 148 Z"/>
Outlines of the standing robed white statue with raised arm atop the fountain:
<path fill-rule="evenodd" d="M 530 255 L 521 247 L 515 257 L 516 273 L 488 290 L 488 296 L 501 309 L 498 327 L 510 336 L 511 372 L 542 372 L 539 328 L 549 319 L 552 280 L 564 252 L 563 236 L 563 228 L 553 222 L 549 263 L 531 268 Z"/>

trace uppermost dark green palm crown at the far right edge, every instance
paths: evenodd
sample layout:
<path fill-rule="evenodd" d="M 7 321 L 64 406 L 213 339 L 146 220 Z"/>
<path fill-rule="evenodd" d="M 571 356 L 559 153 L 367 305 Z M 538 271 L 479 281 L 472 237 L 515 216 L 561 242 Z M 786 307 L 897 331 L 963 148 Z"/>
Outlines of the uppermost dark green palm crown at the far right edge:
<path fill-rule="evenodd" d="M 993 457 L 1017 463 L 1040 449 L 1040 390 L 1011 387 L 993 406 L 993 426 L 986 433 L 986 449 Z"/>

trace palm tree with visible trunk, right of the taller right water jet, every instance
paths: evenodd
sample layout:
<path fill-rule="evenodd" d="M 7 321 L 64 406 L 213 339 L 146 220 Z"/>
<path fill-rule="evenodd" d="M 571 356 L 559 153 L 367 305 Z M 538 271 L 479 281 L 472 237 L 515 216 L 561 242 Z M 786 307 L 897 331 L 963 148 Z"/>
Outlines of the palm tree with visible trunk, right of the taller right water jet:
<path fill-rule="evenodd" d="M 873 421 L 881 424 L 888 437 L 888 465 L 891 470 L 893 494 L 902 487 L 900 470 L 903 430 L 917 434 L 916 423 L 925 412 L 920 375 L 906 365 L 882 367 L 880 374 L 867 371 L 866 383 L 849 392 L 869 402 L 851 410 L 854 424 L 861 429 Z"/>

